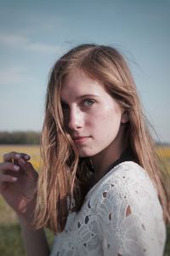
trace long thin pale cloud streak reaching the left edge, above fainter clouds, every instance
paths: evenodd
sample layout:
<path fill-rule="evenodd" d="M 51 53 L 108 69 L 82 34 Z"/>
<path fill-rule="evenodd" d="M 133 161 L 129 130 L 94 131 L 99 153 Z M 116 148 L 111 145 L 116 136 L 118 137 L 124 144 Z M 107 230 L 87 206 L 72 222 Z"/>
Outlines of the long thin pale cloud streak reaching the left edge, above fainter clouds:
<path fill-rule="evenodd" d="M 57 45 L 43 44 L 40 42 L 33 43 L 29 38 L 20 35 L 9 35 L 0 33 L 0 44 L 6 47 L 24 49 L 42 53 L 60 53 L 61 48 Z"/>

